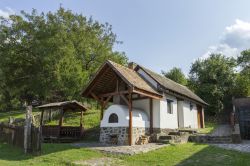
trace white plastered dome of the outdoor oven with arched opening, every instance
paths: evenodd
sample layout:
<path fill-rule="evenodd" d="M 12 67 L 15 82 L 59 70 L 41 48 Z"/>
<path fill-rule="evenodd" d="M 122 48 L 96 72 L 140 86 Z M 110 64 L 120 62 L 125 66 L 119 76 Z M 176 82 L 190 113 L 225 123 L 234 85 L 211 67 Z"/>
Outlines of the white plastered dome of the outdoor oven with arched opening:
<path fill-rule="evenodd" d="M 109 116 L 115 113 L 118 116 L 118 123 L 109 123 Z M 146 112 L 139 109 L 132 109 L 132 125 L 133 127 L 149 127 L 149 118 Z M 128 127 L 129 111 L 124 105 L 111 105 L 103 115 L 100 127 Z"/>

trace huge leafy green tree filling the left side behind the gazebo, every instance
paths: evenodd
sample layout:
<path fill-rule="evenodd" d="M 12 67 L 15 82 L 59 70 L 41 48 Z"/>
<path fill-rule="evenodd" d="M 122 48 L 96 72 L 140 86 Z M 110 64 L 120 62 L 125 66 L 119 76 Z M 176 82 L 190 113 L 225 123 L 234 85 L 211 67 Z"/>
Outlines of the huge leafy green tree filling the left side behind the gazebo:
<path fill-rule="evenodd" d="M 4 87 L 0 99 L 6 102 L 79 98 L 105 60 L 127 63 L 124 53 L 113 51 L 120 42 L 108 23 L 62 7 L 55 13 L 21 11 L 0 18 L 0 38 L 0 86 Z"/>

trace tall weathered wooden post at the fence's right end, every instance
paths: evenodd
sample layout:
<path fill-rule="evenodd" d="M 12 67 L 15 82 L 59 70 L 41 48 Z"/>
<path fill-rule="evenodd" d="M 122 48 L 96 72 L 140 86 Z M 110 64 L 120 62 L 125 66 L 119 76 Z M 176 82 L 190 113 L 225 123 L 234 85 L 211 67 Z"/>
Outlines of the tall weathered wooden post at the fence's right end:
<path fill-rule="evenodd" d="M 32 124 L 32 106 L 26 107 L 26 118 L 24 124 L 24 153 L 27 154 L 31 149 L 31 124 Z"/>

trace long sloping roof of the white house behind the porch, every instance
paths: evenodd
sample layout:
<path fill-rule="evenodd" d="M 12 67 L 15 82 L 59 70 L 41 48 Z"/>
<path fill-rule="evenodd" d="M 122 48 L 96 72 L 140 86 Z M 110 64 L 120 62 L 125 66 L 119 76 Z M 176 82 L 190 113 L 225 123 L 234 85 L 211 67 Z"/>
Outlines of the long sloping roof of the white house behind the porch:
<path fill-rule="evenodd" d="M 165 89 L 177 92 L 183 96 L 186 96 L 187 98 L 193 99 L 204 105 L 208 105 L 205 101 L 203 101 L 199 96 L 197 96 L 194 92 L 192 92 L 186 86 L 178 84 L 172 81 L 171 79 L 168 79 L 140 65 L 137 65 L 135 70 L 138 70 L 139 68 L 141 68 L 144 72 L 146 72 L 149 76 L 151 76 L 152 79 L 154 79 L 158 84 L 160 84 Z"/>

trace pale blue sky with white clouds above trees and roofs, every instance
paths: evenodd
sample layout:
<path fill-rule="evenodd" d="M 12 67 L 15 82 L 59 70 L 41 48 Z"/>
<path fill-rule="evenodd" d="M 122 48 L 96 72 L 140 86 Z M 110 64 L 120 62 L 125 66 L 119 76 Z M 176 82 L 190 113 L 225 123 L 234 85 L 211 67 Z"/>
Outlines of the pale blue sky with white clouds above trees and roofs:
<path fill-rule="evenodd" d="M 158 73 L 211 53 L 237 56 L 250 48 L 249 0 L 0 0 L 0 16 L 60 5 L 113 27 L 114 50 Z"/>

